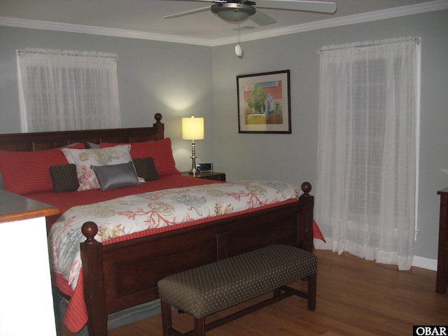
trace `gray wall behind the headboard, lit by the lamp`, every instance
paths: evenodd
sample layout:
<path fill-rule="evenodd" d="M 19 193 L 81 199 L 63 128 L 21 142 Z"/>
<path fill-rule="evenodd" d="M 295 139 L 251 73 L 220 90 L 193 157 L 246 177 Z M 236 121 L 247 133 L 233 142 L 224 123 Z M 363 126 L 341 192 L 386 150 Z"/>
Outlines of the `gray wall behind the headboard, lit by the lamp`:
<path fill-rule="evenodd" d="M 154 114 L 162 113 L 165 137 L 172 138 L 179 169 L 191 167 L 191 144 L 181 139 L 182 117 L 205 117 L 205 136 L 211 138 L 209 47 L 1 26 L 0 45 L 0 133 L 20 132 L 16 50 L 48 48 L 116 53 L 123 127 L 153 125 Z M 213 147 L 201 142 L 197 141 L 197 152 L 212 160 Z"/>

